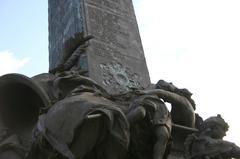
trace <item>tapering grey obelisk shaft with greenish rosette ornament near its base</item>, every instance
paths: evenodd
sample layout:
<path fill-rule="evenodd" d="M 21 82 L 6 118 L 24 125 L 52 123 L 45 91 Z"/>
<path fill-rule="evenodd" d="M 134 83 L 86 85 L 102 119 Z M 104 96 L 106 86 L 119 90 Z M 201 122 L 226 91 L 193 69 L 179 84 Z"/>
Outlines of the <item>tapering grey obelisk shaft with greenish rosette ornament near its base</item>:
<path fill-rule="evenodd" d="M 81 69 L 110 93 L 150 84 L 132 0 L 48 0 L 50 69 L 76 33 L 93 35 Z"/>

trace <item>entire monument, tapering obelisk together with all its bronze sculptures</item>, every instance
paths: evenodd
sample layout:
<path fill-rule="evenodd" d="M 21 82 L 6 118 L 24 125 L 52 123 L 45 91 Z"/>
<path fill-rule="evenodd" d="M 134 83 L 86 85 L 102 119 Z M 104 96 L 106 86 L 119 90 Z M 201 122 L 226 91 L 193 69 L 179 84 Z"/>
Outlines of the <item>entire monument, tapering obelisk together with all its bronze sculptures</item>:
<path fill-rule="evenodd" d="M 228 124 L 196 114 L 188 89 L 146 88 L 130 0 L 49 5 L 49 73 L 0 76 L 0 159 L 240 158 Z"/>

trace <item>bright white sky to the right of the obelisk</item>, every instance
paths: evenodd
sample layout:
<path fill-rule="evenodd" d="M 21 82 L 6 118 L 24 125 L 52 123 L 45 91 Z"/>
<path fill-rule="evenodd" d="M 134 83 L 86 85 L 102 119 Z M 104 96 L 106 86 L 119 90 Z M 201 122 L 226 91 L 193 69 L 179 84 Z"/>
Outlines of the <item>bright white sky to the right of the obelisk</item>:
<path fill-rule="evenodd" d="M 188 88 L 204 119 L 221 114 L 240 145 L 240 1 L 135 0 L 153 83 Z"/>

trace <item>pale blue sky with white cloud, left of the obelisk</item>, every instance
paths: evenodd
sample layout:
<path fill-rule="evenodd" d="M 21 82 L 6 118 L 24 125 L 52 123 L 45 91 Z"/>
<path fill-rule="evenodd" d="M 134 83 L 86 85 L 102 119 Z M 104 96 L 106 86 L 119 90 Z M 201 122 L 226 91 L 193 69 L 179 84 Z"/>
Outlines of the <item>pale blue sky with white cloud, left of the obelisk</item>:
<path fill-rule="evenodd" d="M 15 62 L 10 63 L 16 65 L 15 67 L 9 66 L 8 63 L 6 66 L 1 65 L 4 67 L 1 68 L 3 69 L 1 72 L 13 69 L 32 76 L 47 71 L 47 14 L 47 0 L 1 0 L 0 52 L 5 52 L 5 56 Z"/>

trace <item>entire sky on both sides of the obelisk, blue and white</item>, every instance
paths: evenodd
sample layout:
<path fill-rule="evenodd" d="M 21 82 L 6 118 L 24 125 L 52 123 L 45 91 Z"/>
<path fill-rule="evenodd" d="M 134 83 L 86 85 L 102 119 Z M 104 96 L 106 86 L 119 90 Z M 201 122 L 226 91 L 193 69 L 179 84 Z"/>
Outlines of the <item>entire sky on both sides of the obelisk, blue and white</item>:
<path fill-rule="evenodd" d="M 240 1 L 133 2 L 152 83 L 188 88 L 196 112 L 221 114 L 240 145 Z M 47 72 L 47 0 L 1 0 L 0 21 L 0 75 Z"/>

